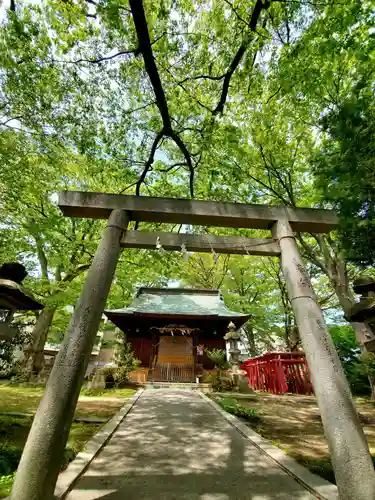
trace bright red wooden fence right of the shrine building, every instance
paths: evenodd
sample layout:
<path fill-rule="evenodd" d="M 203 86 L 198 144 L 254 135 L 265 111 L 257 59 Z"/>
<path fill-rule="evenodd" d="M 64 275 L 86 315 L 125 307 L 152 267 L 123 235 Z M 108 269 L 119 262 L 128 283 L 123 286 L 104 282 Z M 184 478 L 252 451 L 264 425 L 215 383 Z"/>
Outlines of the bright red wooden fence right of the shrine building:
<path fill-rule="evenodd" d="M 303 353 L 269 352 L 244 361 L 241 369 L 249 379 L 249 387 L 258 391 L 283 394 L 312 394 L 313 387 Z"/>

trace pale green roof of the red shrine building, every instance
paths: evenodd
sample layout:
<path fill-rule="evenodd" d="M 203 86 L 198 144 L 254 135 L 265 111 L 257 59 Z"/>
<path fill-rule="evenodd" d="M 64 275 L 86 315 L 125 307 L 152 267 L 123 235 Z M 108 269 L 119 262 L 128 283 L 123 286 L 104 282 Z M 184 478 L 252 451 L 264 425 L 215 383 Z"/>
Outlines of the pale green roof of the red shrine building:
<path fill-rule="evenodd" d="M 224 304 L 219 290 L 191 288 L 140 288 L 129 307 L 104 311 L 115 316 L 189 316 L 237 320 L 245 323 L 250 315 L 231 311 Z"/>

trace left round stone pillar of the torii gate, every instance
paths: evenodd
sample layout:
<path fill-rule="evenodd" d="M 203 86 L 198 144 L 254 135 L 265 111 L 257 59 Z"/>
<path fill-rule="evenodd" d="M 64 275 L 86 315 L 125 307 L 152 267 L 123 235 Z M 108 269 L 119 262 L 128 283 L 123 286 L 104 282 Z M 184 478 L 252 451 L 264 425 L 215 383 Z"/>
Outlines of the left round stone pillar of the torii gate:
<path fill-rule="evenodd" d="M 129 216 L 113 210 L 56 356 L 17 469 L 11 500 L 50 500 Z M 63 382 L 62 382 L 63 381 Z"/>

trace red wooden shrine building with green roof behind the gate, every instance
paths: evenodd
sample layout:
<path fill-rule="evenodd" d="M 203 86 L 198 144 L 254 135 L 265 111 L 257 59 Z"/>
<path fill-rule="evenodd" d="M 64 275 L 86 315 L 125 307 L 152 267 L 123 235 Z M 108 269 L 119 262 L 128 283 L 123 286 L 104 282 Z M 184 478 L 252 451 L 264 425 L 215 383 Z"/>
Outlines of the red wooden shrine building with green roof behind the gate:
<path fill-rule="evenodd" d="M 229 310 L 219 290 L 190 288 L 140 288 L 128 307 L 104 314 L 126 333 L 144 382 L 200 381 L 214 368 L 205 349 L 225 350 L 229 323 L 250 318 Z"/>

